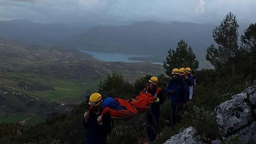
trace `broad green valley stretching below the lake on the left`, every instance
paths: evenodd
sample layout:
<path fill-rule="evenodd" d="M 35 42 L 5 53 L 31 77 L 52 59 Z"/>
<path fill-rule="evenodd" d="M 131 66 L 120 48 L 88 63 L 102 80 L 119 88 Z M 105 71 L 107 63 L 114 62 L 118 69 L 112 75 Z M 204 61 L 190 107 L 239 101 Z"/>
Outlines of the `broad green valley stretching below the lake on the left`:
<path fill-rule="evenodd" d="M 72 48 L 0 38 L 0 122 L 36 124 L 52 112 L 69 112 L 112 71 L 129 83 L 165 72 L 161 65 L 100 61 Z"/>

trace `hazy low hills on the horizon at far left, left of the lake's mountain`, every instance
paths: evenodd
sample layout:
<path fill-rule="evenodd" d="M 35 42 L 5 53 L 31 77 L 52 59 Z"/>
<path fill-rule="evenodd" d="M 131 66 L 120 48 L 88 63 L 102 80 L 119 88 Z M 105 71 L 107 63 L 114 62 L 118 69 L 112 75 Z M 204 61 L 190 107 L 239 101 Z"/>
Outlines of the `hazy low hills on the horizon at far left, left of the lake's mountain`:
<path fill-rule="evenodd" d="M 29 43 L 54 43 L 74 35 L 79 35 L 93 26 L 101 26 L 96 23 L 60 23 L 52 24 L 36 23 L 29 19 L 14 19 L 0 21 L 0 35 L 9 39 Z"/>

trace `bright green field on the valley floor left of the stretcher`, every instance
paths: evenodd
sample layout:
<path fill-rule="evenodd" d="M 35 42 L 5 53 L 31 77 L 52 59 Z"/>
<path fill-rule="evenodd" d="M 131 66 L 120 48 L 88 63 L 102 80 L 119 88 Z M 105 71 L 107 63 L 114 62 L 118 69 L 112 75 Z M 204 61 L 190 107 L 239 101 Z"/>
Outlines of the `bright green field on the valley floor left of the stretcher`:
<path fill-rule="evenodd" d="M 12 76 L 15 78 L 28 80 L 30 82 L 37 82 L 43 85 L 49 85 L 55 88 L 55 90 L 27 90 L 24 91 L 28 94 L 43 97 L 45 99 L 51 99 L 57 102 L 61 102 L 62 99 L 67 98 L 76 98 L 81 97 L 83 93 L 90 93 L 95 88 L 97 88 L 100 80 L 96 81 L 86 81 L 83 80 L 74 80 L 74 79 L 55 79 L 49 78 L 47 76 L 38 76 L 35 73 L 11 73 Z M 6 83 L 7 85 L 17 85 L 17 82 L 14 80 L 4 80 L 1 79 L 2 82 Z"/>

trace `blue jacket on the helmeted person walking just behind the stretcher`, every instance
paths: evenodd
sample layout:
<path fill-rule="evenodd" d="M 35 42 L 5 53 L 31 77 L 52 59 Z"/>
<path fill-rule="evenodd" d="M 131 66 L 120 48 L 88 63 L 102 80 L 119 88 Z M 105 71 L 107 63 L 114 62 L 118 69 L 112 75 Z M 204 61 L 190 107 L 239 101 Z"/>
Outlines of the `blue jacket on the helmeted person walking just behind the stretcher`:
<path fill-rule="evenodd" d="M 167 83 L 165 90 L 172 102 L 182 102 L 185 104 L 188 101 L 189 90 L 185 81 L 180 77 L 176 80 L 172 79 Z"/>

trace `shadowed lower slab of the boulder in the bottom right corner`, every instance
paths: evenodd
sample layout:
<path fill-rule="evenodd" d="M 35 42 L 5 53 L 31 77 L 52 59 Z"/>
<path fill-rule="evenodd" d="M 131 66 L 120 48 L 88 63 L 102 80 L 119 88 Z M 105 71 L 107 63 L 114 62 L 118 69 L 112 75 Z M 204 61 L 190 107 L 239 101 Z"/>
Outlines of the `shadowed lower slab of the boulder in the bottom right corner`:
<path fill-rule="evenodd" d="M 254 121 L 251 125 L 239 130 L 233 135 L 230 135 L 225 141 L 228 142 L 230 139 L 235 137 L 239 137 L 241 139 L 241 144 L 248 144 L 248 141 L 256 142 L 256 122 Z"/>

